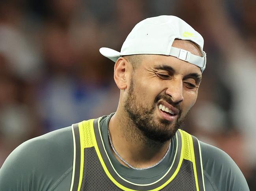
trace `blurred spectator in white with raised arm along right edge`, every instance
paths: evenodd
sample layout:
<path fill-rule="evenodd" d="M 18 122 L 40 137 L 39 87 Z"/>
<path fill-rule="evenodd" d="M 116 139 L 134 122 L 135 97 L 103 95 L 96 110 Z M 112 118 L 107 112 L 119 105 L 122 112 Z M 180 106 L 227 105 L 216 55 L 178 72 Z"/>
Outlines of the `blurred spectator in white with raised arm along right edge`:
<path fill-rule="evenodd" d="M 243 5 L 250 1 L 244 1 Z M 252 2 L 250 2 L 252 3 Z M 255 4 L 255 3 L 254 3 Z M 244 136 L 248 149 L 246 153 L 250 153 L 249 162 L 253 165 L 256 161 L 256 100 L 255 100 L 255 81 L 256 81 L 256 56 L 250 47 L 252 37 L 242 38 L 238 29 L 232 24 L 228 13 L 224 11 L 221 1 L 205 2 L 201 1 L 202 18 L 204 24 L 209 29 L 209 33 L 215 39 L 216 45 L 221 50 L 224 57 L 219 73 L 223 82 L 232 91 L 232 106 L 230 114 L 233 123 Z M 207 8 L 210 7 L 210 8 Z M 241 14 L 248 14 L 242 12 Z M 250 20 L 250 18 L 249 18 Z M 253 24 L 247 21 L 247 24 Z M 255 25 L 254 25 L 255 26 Z M 256 32 L 256 27 L 250 27 Z M 247 32 L 248 35 L 255 33 Z M 225 64 L 224 64 L 225 62 Z M 224 69 L 224 70 L 223 70 Z"/>

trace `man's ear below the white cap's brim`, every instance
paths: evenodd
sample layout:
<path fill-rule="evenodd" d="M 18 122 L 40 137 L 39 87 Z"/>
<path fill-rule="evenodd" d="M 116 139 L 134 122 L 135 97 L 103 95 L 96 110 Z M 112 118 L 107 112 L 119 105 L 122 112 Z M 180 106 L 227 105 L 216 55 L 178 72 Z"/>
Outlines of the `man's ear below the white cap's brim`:
<path fill-rule="evenodd" d="M 126 89 L 132 74 L 131 64 L 123 57 L 118 58 L 114 67 L 114 80 L 119 89 Z"/>

